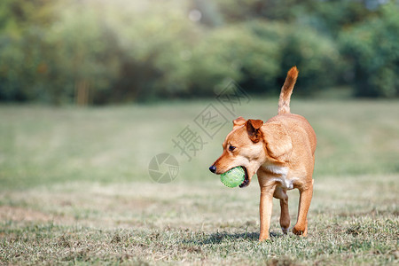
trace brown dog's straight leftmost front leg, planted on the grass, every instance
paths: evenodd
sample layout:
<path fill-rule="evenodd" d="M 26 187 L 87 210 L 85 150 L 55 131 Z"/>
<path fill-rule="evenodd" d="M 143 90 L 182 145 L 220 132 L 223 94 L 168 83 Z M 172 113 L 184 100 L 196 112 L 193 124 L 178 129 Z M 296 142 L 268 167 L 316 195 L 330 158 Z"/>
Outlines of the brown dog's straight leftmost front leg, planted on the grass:
<path fill-rule="evenodd" d="M 259 235 L 259 241 L 269 239 L 273 193 L 275 189 L 276 185 L 261 186 L 261 204 L 259 206 L 259 212 L 261 215 L 261 233 Z"/>

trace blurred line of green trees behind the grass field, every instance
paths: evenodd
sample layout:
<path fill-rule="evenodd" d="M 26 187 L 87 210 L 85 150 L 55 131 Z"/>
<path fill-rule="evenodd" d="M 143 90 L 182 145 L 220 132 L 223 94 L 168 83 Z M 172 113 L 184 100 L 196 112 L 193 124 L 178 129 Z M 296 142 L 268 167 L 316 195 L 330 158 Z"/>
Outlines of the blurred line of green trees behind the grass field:
<path fill-rule="evenodd" d="M 399 95 L 395 0 L 2 0 L 0 101 L 79 105 L 276 95 L 349 84 Z"/>

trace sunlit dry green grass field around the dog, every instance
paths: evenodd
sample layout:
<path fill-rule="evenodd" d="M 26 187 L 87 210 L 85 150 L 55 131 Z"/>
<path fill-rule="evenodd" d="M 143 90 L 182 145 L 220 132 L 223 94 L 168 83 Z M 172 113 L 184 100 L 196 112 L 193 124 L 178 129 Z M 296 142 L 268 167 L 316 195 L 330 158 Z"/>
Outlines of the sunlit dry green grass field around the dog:
<path fill-rule="evenodd" d="M 207 137 L 194 120 L 213 103 L 229 120 Z M 239 106 L 266 121 L 277 99 Z M 399 102 L 293 99 L 317 133 L 309 237 L 259 243 L 259 187 L 229 189 L 207 168 L 233 115 L 215 100 L 154 106 L 0 106 L 0 264 L 399 263 Z M 187 125 L 207 142 L 192 160 L 172 139 Z M 171 153 L 179 175 L 148 164 Z M 289 192 L 292 225 L 298 192 Z"/>

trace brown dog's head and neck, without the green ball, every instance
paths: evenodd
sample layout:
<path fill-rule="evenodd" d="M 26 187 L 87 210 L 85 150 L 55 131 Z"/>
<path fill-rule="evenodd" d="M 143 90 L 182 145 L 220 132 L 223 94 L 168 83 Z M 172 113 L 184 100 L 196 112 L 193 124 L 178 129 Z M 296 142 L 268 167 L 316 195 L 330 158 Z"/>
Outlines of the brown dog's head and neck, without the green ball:
<path fill-rule="evenodd" d="M 291 153 L 291 138 L 279 122 L 263 124 L 262 120 L 233 121 L 233 129 L 223 142 L 223 153 L 209 168 L 217 175 L 242 167 L 246 178 L 239 187 L 251 182 L 258 168 L 267 161 L 281 163 Z"/>

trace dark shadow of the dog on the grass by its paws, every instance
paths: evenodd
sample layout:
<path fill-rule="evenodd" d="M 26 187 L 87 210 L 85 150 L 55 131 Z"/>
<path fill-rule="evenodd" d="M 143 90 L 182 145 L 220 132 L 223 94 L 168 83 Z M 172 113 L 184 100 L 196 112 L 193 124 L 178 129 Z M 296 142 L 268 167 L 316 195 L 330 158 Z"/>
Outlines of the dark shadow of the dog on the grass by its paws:
<path fill-rule="evenodd" d="M 270 232 L 270 239 L 281 238 L 282 233 Z M 226 241 L 249 240 L 258 241 L 259 232 L 245 232 L 245 233 L 230 233 L 230 232 L 215 232 L 210 235 L 205 235 L 198 240 L 194 240 L 199 245 L 220 244 Z"/>

